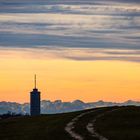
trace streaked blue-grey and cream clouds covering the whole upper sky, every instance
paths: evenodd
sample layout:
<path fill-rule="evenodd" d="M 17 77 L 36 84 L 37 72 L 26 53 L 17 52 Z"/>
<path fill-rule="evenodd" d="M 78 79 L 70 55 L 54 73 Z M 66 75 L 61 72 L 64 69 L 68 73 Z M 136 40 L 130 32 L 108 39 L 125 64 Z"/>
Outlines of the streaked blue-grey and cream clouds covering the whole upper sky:
<path fill-rule="evenodd" d="M 138 62 L 139 4 L 137 0 L 0 1 L 0 47 L 45 49 L 53 58 L 55 54 L 73 60 Z"/>

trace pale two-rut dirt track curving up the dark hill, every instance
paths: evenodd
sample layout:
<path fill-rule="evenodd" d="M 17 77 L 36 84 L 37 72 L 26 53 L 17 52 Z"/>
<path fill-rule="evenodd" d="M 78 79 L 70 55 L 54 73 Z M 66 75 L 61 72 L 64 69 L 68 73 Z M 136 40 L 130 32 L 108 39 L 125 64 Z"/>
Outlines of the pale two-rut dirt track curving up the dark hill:
<path fill-rule="evenodd" d="M 86 128 L 88 133 L 88 137 L 86 136 L 82 136 L 80 133 L 75 131 L 76 126 L 78 125 L 78 121 L 79 119 L 82 119 L 83 117 L 86 117 L 86 115 L 93 115 L 96 114 L 98 111 L 101 111 L 100 109 L 97 110 L 92 110 L 92 111 L 88 111 L 88 112 L 84 112 L 81 113 L 80 115 L 76 116 L 75 118 L 73 118 L 65 127 L 65 131 L 67 133 L 70 134 L 70 136 L 76 140 L 86 140 L 86 139 L 98 139 L 98 140 L 108 140 L 106 137 L 102 136 L 101 134 L 99 134 L 96 130 L 95 130 L 95 122 L 98 118 L 103 117 L 105 114 L 107 113 L 111 113 L 112 111 L 116 111 L 118 109 L 111 109 L 111 110 L 102 110 L 103 113 L 98 113 L 98 115 L 95 115 L 91 120 L 88 120 L 87 125 L 85 125 L 84 127 Z"/>

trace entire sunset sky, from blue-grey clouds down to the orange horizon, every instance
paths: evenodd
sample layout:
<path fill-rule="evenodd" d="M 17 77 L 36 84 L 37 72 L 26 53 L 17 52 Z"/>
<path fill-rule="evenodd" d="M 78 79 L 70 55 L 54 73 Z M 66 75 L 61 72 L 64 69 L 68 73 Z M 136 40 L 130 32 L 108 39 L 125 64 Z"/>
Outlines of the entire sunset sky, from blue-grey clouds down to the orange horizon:
<path fill-rule="evenodd" d="M 140 100 L 139 0 L 0 0 L 0 101 Z"/>

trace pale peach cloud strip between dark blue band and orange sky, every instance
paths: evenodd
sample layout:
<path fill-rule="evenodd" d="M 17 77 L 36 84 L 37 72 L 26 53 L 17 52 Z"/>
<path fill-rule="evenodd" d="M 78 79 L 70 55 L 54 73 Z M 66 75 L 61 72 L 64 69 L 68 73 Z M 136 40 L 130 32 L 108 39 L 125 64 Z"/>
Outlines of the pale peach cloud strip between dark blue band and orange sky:
<path fill-rule="evenodd" d="M 1 47 L 0 58 L 69 59 L 74 61 L 119 60 L 140 62 L 140 50 L 103 48 L 64 48 L 42 46 L 36 48 Z"/>

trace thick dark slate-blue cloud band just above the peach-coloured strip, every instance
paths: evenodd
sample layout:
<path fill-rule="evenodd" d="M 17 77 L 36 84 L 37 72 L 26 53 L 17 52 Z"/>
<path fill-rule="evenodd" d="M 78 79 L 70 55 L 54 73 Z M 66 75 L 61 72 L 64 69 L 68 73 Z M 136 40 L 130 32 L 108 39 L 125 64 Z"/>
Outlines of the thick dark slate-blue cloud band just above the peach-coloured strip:
<path fill-rule="evenodd" d="M 68 48 L 111 48 L 111 49 L 139 49 L 139 44 L 101 40 L 98 37 L 73 37 L 48 34 L 13 34 L 3 32 L 0 34 L 0 45 L 5 47 L 36 48 L 41 46 L 62 46 Z M 132 38 L 133 39 L 133 38 Z M 136 38 L 134 38 L 136 39 Z M 139 38 L 138 38 L 139 40 Z M 113 44 L 113 45 L 112 45 Z M 52 48 L 53 49 L 53 48 Z"/>

